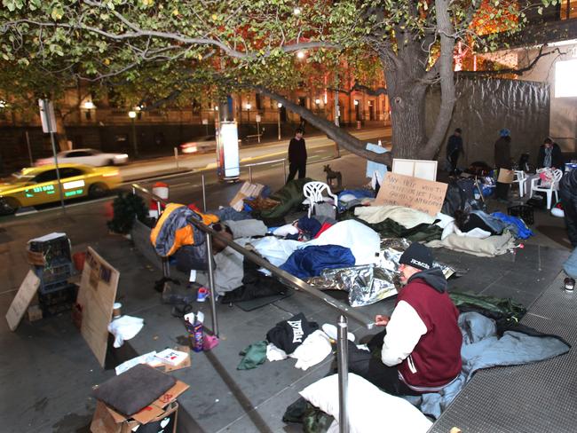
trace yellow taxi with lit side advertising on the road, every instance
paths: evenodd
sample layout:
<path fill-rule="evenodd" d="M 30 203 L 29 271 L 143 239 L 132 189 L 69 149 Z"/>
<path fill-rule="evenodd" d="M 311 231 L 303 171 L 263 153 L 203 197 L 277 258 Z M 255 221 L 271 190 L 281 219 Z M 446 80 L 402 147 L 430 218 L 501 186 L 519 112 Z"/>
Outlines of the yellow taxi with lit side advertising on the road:
<path fill-rule="evenodd" d="M 101 197 L 118 187 L 122 177 L 114 167 L 59 164 L 64 200 Z M 36 206 L 60 200 L 60 188 L 54 164 L 21 169 L 0 180 L 0 215 L 9 215 L 20 207 Z"/>

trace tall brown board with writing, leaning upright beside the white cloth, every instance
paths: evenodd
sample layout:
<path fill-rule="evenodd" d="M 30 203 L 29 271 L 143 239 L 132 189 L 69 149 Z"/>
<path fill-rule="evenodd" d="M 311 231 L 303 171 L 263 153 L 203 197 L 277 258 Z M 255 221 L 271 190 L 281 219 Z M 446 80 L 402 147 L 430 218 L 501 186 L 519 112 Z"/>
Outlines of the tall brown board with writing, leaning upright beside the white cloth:
<path fill-rule="evenodd" d="M 76 303 L 82 309 L 80 333 L 103 367 L 119 278 L 120 272 L 89 247 Z"/>

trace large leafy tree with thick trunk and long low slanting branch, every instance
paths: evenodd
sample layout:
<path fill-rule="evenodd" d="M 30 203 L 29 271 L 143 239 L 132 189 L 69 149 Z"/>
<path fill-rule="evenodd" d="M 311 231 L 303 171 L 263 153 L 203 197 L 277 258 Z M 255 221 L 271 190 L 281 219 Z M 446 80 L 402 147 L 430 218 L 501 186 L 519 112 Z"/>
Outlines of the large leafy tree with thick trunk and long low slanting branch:
<path fill-rule="evenodd" d="M 542 0 L 549 3 L 556 2 Z M 176 104 L 207 91 L 219 98 L 254 90 L 377 161 L 383 156 L 283 95 L 313 76 L 338 77 L 344 64 L 359 72 L 358 80 L 364 71 L 368 84 L 371 73 L 383 74 L 393 154 L 432 158 L 454 107 L 455 43 L 494 50 L 494 32 L 518 31 L 531 7 L 513 0 L 3 0 L 3 6 L 0 65 L 16 75 L 0 80 L 4 92 L 58 93 L 83 81 L 117 86 L 135 104 Z M 428 137 L 424 96 L 436 83 L 441 104 Z"/>

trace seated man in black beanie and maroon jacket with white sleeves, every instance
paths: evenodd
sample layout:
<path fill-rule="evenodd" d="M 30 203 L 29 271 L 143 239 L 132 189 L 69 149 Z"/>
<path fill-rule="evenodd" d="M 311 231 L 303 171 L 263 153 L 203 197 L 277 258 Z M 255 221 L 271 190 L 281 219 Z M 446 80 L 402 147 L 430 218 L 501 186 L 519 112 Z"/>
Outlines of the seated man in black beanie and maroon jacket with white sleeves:
<path fill-rule="evenodd" d="M 373 353 L 382 345 L 380 358 L 349 342 L 349 371 L 393 395 L 436 392 L 461 373 L 459 311 L 432 261 L 431 250 L 416 242 L 400 256 L 404 287 L 391 318 L 376 316 L 386 329 L 368 344 Z"/>

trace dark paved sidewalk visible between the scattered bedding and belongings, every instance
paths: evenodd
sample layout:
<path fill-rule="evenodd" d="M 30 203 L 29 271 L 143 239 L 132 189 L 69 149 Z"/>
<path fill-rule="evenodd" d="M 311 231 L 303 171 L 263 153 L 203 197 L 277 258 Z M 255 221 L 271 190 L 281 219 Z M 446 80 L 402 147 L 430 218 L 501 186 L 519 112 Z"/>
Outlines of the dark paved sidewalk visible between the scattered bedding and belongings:
<path fill-rule="evenodd" d="M 331 162 L 331 166 L 347 174 L 347 187 L 363 185 L 367 180 L 363 177 L 364 161 L 352 155 Z M 320 164 L 310 171 L 312 177 L 324 178 Z M 279 185 L 271 186 L 275 189 Z M 239 187 L 209 185 L 209 208 L 230 201 Z M 502 206 L 495 204 L 491 202 L 492 210 Z M 66 232 L 74 251 L 83 251 L 90 245 L 119 270 L 117 299 L 123 303 L 123 313 L 145 319 L 145 327 L 125 343 L 125 350 L 142 354 L 186 341 L 186 329 L 180 319 L 170 314 L 170 305 L 162 304 L 160 295 L 154 291 L 154 280 L 161 278 L 160 272 L 138 253 L 130 240 L 107 232 L 106 210 L 102 203 L 93 203 L 67 209 L 66 215 L 55 210 L 4 224 L 0 229 L 0 260 L 4 263 L 0 269 L 4 281 L 0 293 L 2 311 L 7 311 L 28 272 L 27 240 L 48 232 Z M 468 270 L 461 278 L 450 280 L 450 289 L 511 296 L 526 306 L 532 305 L 557 277 L 569 254 L 563 245 L 562 220 L 536 212 L 534 228 L 537 235 L 526 242 L 525 248 L 505 256 L 487 259 L 435 250 L 440 261 Z M 393 307 L 394 299 L 388 299 L 361 307 L 360 311 L 374 316 L 388 314 Z M 206 314 L 205 323 L 210 326 L 209 303 L 195 303 L 194 308 Z M 294 367 L 294 360 L 267 362 L 255 370 L 236 370 L 241 350 L 264 339 L 266 331 L 278 321 L 298 312 L 320 324 L 334 324 L 337 319 L 336 311 L 326 303 L 300 292 L 256 311 L 218 304 L 220 344 L 214 350 L 194 353 L 190 368 L 173 373 L 191 385 L 178 399 L 181 405 L 178 431 L 302 431 L 300 425 L 284 423 L 282 414 L 298 397 L 299 390 L 328 373 L 332 357 L 305 372 Z M 349 324 L 358 338 L 368 333 L 353 320 Z M 102 370 L 69 316 L 61 314 L 33 323 L 25 319 L 16 332 L 11 332 L 3 321 L 0 342 L 3 431 L 87 431 L 95 405 L 91 388 L 112 377 L 114 371 Z M 491 426 L 487 429 L 494 431 Z"/>

